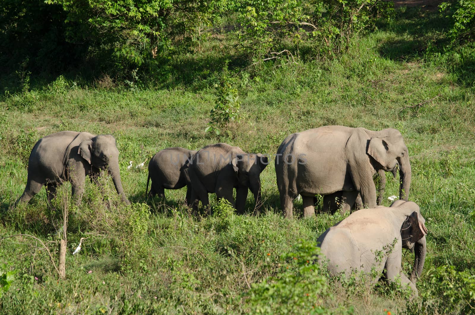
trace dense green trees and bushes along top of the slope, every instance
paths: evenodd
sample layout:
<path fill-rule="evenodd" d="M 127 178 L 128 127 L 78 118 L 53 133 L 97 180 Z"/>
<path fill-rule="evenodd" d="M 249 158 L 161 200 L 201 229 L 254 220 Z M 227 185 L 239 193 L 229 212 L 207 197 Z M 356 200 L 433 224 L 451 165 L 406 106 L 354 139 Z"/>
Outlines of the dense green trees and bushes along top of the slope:
<path fill-rule="evenodd" d="M 69 69 L 121 80 L 137 67 L 169 74 L 168 64 L 195 56 L 214 36 L 244 62 L 294 59 L 301 48 L 328 57 L 391 11 L 381 0 L 6 0 L 1 10 L 0 62 L 8 74 Z"/>

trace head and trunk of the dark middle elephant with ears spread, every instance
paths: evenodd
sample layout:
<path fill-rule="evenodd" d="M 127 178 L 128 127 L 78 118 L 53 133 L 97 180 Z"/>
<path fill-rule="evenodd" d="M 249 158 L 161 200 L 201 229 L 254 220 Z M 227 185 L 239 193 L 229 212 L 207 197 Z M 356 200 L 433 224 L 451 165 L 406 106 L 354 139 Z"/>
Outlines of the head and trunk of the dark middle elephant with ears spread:
<path fill-rule="evenodd" d="M 256 211 L 262 206 L 260 174 L 266 168 L 268 159 L 261 153 L 237 154 L 232 159 L 239 185 L 249 187 L 256 200 Z"/>

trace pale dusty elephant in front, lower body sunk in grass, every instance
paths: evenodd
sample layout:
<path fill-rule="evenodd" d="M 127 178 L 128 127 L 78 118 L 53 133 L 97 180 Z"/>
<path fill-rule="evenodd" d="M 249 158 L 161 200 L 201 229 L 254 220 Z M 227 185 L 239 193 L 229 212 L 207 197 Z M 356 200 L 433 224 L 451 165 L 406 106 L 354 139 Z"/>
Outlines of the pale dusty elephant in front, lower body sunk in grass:
<path fill-rule="evenodd" d="M 317 239 L 320 263 L 328 263 L 332 275 L 348 276 L 353 271 L 371 274 L 379 280 L 385 271 L 387 282 L 398 277 L 417 296 L 416 280 L 426 259 L 425 219 L 412 201 L 396 200 L 390 207 L 378 206 L 353 212 L 328 228 Z M 402 273 L 402 248 L 414 249 L 414 267 L 410 279 Z"/>

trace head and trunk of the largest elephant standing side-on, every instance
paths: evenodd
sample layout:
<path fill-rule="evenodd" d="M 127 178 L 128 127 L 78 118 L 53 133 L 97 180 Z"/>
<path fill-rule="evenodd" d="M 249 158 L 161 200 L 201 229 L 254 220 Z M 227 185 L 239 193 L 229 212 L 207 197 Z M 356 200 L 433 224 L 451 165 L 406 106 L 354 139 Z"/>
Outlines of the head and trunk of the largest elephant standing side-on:
<path fill-rule="evenodd" d="M 368 143 L 367 153 L 380 164 L 385 171 L 392 171 L 399 166 L 399 199 L 408 200 L 411 185 L 411 165 L 409 151 L 401 133 L 397 129 L 384 129 L 375 132 Z"/>

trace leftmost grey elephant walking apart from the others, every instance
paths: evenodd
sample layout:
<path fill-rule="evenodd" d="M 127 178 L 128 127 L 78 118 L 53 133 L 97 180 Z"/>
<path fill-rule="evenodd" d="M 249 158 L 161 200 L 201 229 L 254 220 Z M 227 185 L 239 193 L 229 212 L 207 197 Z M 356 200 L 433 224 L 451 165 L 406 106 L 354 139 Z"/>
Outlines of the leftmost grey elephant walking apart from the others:
<path fill-rule="evenodd" d="M 20 202 L 28 202 L 46 186 L 47 200 L 56 196 L 64 181 L 70 181 L 76 204 L 81 202 L 86 175 L 99 176 L 107 168 L 117 193 L 125 197 L 119 172 L 119 150 L 111 135 L 93 135 L 88 132 L 60 131 L 38 140 L 28 159 L 28 179 Z"/>

